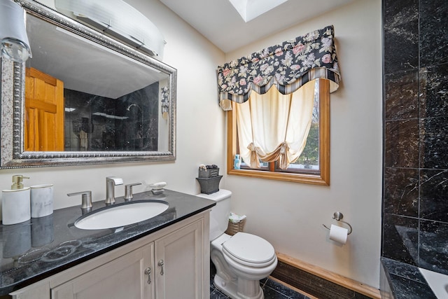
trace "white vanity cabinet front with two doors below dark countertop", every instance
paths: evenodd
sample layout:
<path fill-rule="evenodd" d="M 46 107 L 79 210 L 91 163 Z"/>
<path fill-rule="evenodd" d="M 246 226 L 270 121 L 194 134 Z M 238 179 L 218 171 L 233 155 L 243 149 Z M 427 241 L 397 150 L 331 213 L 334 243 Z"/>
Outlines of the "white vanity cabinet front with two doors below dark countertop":
<path fill-rule="evenodd" d="M 15 291 L 17 299 L 209 298 L 209 211 Z"/>

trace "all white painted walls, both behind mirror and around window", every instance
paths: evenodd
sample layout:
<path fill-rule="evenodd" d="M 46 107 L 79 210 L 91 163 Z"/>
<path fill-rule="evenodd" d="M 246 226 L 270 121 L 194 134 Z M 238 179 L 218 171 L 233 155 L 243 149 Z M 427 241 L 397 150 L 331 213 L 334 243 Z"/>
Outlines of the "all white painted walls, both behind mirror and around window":
<path fill-rule="evenodd" d="M 50 1 L 50 0 L 45 0 Z M 225 173 L 225 114 L 217 104 L 216 66 L 314 29 L 335 25 L 342 84 L 331 95 L 331 185 L 224 176 L 232 209 L 246 214 L 246 231 L 272 242 L 276 251 L 377 287 L 381 228 L 381 1 L 358 0 L 224 55 L 157 0 L 127 0 L 165 35 L 164 62 L 178 70 L 177 160 L 83 167 L 0 170 L 0 188 L 10 176 L 31 176 L 27 186 L 55 183 L 55 208 L 80 204 L 66 193 L 92 190 L 105 196 L 105 177 L 125 183 L 167 181 L 172 190 L 196 194 L 201 163 Z M 136 186 L 135 192 L 142 187 Z M 123 186 L 116 190 L 124 195 Z M 353 225 L 345 246 L 328 240 L 334 211 Z"/>

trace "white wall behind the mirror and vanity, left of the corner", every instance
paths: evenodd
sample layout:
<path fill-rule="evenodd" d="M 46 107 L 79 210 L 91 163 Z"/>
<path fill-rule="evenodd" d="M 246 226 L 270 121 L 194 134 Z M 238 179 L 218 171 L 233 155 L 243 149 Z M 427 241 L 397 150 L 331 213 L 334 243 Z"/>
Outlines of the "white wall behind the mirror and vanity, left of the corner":
<path fill-rule="evenodd" d="M 43 0 L 52 6 L 52 0 Z M 167 188 L 189 194 L 200 192 L 197 167 L 224 165 L 225 114 L 218 106 L 216 66 L 224 53 L 187 25 L 158 0 L 130 0 L 129 4 L 146 15 L 164 34 L 164 62 L 178 71 L 177 160 L 175 162 L 120 163 L 80 167 L 42 167 L 1 169 L 0 188 L 9 189 L 11 176 L 23 174 L 31 179 L 25 186 L 55 184 L 55 208 L 80 204 L 80 197 L 66 193 L 92 190 L 94 201 L 104 200 L 106 176 L 123 177 L 125 183 L 167 181 Z M 135 186 L 134 192 L 143 190 Z M 116 187 L 124 195 L 124 187 Z"/>

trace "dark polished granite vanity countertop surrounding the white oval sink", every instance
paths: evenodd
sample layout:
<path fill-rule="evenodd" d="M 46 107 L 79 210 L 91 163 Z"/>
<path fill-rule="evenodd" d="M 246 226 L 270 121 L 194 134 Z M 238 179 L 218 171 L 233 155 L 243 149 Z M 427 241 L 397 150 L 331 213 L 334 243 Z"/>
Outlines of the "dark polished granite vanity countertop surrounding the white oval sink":
<path fill-rule="evenodd" d="M 73 223 L 82 216 L 80 205 L 57 209 L 53 214 L 15 225 L 0 225 L 0 295 L 50 277 L 73 265 L 116 249 L 140 237 L 213 207 L 202 197 L 165 190 L 134 194 L 133 202 L 162 200 L 169 204 L 162 214 L 122 228 L 80 230 Z M 79 198 L 80 201 L 80 198 Z M 116 204 L 123 203 L 116 198 Z M 94 202 L 92 211 L 105 207 Z"/>

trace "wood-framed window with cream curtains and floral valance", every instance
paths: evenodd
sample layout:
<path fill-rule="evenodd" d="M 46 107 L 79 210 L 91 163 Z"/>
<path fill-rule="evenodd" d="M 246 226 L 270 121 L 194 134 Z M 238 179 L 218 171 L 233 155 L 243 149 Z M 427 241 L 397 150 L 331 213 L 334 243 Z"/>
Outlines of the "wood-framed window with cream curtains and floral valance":
<path fill-rule="evenodd" d="M 330 184 L 330 92 L 340 81 L 332 26 L 227 62 L 217 75 L 228 174 Z"/>

